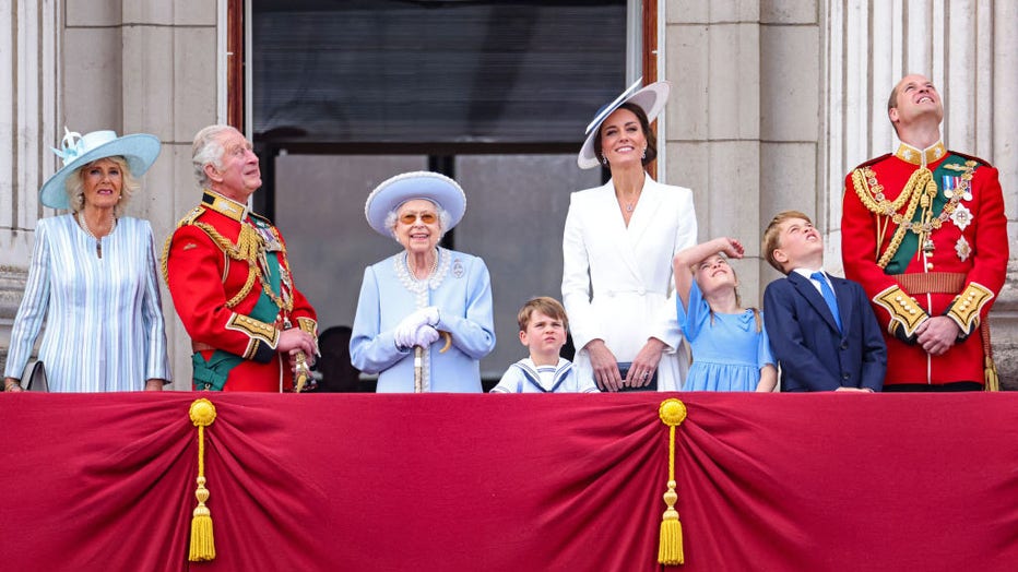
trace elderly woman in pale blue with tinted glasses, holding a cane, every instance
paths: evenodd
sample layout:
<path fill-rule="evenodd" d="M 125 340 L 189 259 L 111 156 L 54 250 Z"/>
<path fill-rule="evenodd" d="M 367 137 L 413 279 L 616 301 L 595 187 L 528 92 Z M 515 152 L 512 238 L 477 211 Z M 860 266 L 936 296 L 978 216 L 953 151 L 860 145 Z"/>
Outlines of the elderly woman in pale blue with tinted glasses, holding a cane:
<path fill-rule="evenodd" d="M 378 392 L 482 391 L 480 360 L 495 347 L 488 269 L 438 246 L 465 212 L 463 189 L 437 172 L 398 175 L 368 195 L 368 224 L 403 247 L 365 270 L 350 342 Z"/>

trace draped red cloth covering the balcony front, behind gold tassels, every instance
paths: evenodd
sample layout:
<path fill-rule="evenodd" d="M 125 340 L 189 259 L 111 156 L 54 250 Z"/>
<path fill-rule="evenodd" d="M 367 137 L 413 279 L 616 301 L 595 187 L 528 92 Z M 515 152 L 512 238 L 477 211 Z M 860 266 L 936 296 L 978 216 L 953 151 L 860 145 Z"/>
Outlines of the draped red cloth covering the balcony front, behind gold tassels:
<path fill-rule="evenodd" d="M 674 570 L 1018 563 L 1018 394 L 181 392 L 0 396 L 0 569 L 659 570 L 668 396 Z"/>

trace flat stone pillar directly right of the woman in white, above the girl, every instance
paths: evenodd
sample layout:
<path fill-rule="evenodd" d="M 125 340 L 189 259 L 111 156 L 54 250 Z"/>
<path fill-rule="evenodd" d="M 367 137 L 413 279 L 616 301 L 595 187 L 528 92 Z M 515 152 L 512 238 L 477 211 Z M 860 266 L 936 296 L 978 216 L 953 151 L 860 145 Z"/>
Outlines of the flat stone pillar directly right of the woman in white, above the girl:
<path fill-rule="evenodd" d="M 667 182 L 693 189 L 699 239 L 738 238 L 743 295 L 758 303 L 760 14 L 757 2 L 668 0 L 665 73 Z"/>

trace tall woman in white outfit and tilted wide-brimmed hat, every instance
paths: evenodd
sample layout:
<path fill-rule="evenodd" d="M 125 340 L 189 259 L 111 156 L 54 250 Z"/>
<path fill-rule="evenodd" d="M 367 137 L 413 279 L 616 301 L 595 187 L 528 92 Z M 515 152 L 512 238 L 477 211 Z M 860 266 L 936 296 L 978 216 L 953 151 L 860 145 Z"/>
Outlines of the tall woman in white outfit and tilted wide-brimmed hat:
<path fill-rule="evenodd" d="M 603 391 L 677 391 L 688 350 L 675 311 L 672 257 L 697 239 L 693 192 L 647 174 L 656 157 L 650 122 L 670 84 L 637 81 L 587 128 L 580 168 L 612 179 L 572 193 L 563 237 L 563 301 L 578 348 L 578 376 Z"/>

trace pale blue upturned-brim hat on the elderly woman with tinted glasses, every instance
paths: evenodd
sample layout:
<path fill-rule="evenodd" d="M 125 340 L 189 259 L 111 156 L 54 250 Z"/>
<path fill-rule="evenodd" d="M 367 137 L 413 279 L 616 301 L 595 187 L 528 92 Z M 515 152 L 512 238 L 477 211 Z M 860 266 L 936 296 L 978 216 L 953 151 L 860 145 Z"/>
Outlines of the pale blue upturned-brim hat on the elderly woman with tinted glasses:
<path fill-rule="evenodd" d="M 438 172 L 418 170 L 396 175 L 376 187 L 364 203 L 364 216 L 376 233 L 391 238 L 386 217 L 414 199 L 431 201 L 449 214 L 449 228 L 442 228 L 443 233 L 460 224 L 466 213 L 466 193 L 460 183 Z"/>

